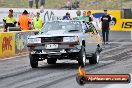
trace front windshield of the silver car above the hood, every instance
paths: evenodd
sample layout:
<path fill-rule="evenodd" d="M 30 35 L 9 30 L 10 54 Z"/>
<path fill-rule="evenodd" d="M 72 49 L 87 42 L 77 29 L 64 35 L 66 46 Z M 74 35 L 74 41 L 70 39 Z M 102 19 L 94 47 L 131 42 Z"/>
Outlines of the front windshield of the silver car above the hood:
<path fill-rule="evenodd" d="M 47 22 L 41 30 L 41 33 L 45 33 L 48 31 L 57 31 L 57 30 L 65 30 L 65 31 L 81 31 L 82 25 L 79 21 L 70 21 L 70 22 Z"/>

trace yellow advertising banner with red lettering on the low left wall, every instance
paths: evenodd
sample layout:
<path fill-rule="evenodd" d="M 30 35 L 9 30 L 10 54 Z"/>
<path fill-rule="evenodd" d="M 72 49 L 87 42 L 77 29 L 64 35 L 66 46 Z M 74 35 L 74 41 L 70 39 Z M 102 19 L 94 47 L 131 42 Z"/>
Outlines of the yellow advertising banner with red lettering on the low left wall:
<path fill-rule="evenodd" d="M 0 33 L 0 57 L 15 55 L 14 33 Z"/>

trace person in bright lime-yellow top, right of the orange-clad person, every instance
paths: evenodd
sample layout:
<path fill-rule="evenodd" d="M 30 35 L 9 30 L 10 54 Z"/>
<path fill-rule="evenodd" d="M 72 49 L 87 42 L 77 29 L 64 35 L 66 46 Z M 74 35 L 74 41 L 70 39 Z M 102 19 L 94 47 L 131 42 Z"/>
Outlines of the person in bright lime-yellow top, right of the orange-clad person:
<path fill-rule="evenodd" d="M 42 17 L 40 17 L 40 13 L 37 12 L 37 15 L 33 18 L 33 26 L 35 30 L 40 30 L 42 28 L 43 21 Z"/>

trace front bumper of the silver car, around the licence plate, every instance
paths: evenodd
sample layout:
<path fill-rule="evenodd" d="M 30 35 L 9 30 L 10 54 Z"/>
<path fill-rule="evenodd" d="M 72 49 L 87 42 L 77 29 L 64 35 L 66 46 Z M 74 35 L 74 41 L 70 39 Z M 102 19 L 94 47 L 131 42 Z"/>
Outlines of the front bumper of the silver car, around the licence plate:
<path fill-rule="evenodd" d="M 46 49 L 47 44 L 58 44 L 56 49 Z M 81 46 L 79 43 L 41 43 L 41 44 L 28 44 L 30 54 L 43 54 L 43 55 L 63 55 L 68 53 L 79 52 Z"/>

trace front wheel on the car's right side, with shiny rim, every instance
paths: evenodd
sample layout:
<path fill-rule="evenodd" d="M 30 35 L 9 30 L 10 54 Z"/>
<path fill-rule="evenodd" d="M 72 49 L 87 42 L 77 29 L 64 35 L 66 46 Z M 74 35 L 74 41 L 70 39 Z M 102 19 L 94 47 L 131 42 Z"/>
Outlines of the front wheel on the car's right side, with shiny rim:
<path fill-rule="evenodd" d="M 86 65 L 86 52 L 84 46 L 81 47 L 81 50 L 78 54 L 78 64 L 81 67 L 85 67 Z"/>

